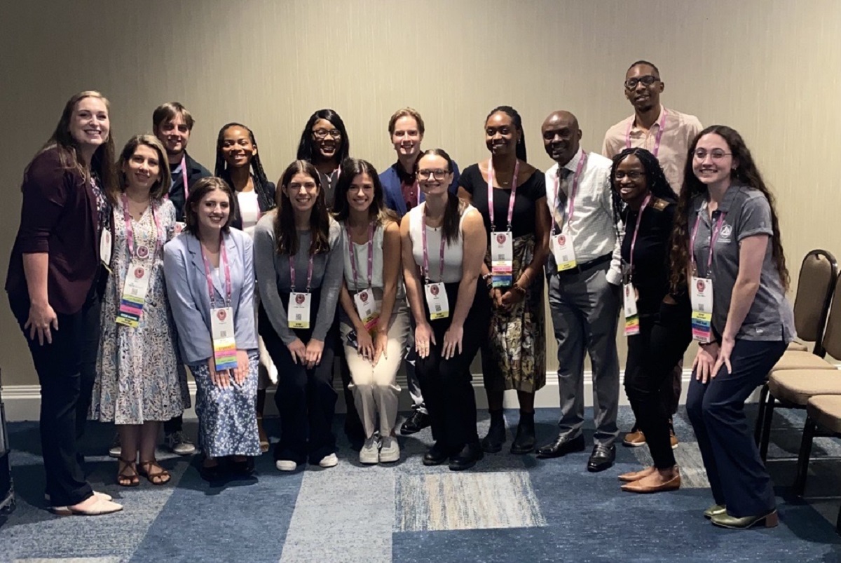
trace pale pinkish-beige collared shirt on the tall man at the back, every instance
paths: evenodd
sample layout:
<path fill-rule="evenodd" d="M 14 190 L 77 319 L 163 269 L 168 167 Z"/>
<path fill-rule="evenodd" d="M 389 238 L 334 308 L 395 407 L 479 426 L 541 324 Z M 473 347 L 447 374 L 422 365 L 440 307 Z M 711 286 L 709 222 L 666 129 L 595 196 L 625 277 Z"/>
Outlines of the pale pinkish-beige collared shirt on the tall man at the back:
<path fill-rule="evenodd" d="M 663 172 L 672 189 L 675 193 L 679 193 L 683 185 L 686 155 L 695 135 L 703 129 L 701 121 L 695 115 L 681 114 L 674 109 L 665 109 L 662 105 L 657 121 L 648 131 L 638 127 L 635 121 L 636 115 L 632 115 L 608 129 L 604 144 L 601 146 L 601 154 L 612 159 L 625 150 L 626 135 L 629 136 L 631 146 L 640 146 L 653 153 L 654 145 L 657 144 L 657 134 L 662 129 L 663 135 L 660 137 L 657 160 L 663 167 Z M 631 125 L 630 134 L 628 125 Z"/>

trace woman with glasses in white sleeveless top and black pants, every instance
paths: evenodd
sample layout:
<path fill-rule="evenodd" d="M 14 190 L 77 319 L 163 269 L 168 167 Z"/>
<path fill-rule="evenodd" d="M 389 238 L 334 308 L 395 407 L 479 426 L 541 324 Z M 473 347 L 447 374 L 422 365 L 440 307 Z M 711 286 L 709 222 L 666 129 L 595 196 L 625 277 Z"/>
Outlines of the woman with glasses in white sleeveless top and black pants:
<path fill-rule="evenodd" d="M 426 201 L 400 223 L 403 276 L 412 316 L 418 378 L 435 443 L 424 465 L 449 459 L 466 470 L 482 459 L 470 364 L 488 334 L 490 299 L 479 280 L 487 247 L 482 215 L 447 188 L 447 152 L 421 153 L 416 177 Z"/>

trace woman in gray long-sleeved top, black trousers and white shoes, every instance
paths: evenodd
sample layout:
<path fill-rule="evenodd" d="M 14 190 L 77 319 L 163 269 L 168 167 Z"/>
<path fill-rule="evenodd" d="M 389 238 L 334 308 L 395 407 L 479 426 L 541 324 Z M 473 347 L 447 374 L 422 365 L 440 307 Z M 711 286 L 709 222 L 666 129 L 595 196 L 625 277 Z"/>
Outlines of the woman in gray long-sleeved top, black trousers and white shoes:
<path fill-rule="evenodd" d="M 294 471 L 307 461 L 333 467 L 336 409 L 334 323 L 344 268 L 343 235 L 327 212 L 318 171 L 309 162 L 290 164 L 280 178 L 278 208 L 254 231 L 260 280 L 257 325 L 278 366 L 280 441 L 275 466 Z"/>

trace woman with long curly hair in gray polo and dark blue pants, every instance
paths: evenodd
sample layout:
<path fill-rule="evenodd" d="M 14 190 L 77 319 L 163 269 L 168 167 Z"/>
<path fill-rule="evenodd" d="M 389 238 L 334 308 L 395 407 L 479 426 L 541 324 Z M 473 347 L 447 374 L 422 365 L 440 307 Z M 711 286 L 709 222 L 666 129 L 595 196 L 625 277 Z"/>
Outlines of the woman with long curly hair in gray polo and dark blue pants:
<path fill-rule="evenodd" d="M 702 130 L 678 198 L 672 288 L 689 282 L 699 342 L 686 412 L 724 528 L 777 524 L 774 489 L 744 415 L 744 401 L 794 337 L 789 274 L 774 198 L 742 136 Z M 687 279 L 688 278 L 688 279 Z"/>

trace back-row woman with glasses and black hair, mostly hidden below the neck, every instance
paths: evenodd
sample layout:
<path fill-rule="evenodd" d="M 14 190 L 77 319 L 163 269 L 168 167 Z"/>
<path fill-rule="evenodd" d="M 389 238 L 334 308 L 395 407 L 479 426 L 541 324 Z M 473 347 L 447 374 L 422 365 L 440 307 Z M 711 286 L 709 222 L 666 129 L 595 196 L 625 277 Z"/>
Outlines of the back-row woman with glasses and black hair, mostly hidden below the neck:
<path fill-rule="evenodd" d="M 341 161 L 350 153 L 345 122 L 332 109 L 319 109 L 309 116 L 301 132 L 298 160 L 311 162 L 318 171 L 328 209 L 333 208 Z"/>

